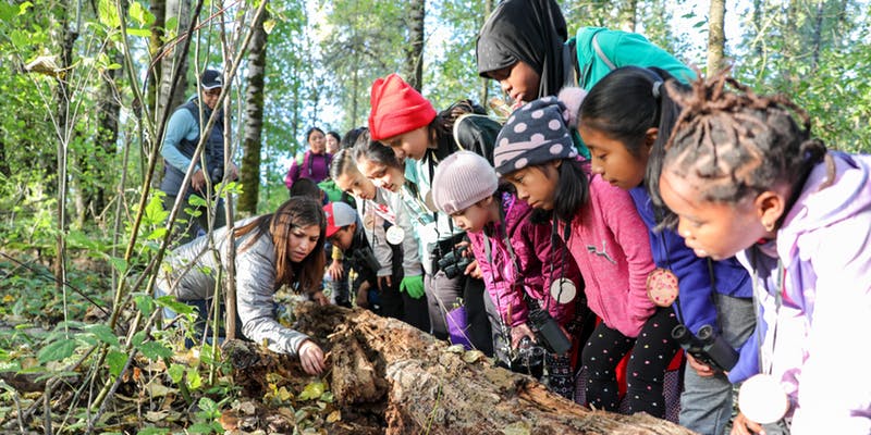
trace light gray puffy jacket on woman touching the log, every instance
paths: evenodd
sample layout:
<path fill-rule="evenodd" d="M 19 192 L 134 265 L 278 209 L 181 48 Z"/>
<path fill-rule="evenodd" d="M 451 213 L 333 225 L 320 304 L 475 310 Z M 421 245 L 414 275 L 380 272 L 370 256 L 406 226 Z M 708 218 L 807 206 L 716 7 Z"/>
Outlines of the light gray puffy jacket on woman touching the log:
<path fill-rule="evenodd" d="M 243 226 L 256 217 L 236 223 Z M 274 316 L 275 250 L 272 236 L 263 234 L 253 245 L 248 240 L 259 234 L 255 228 L 236 239 L 236 309 L 242 333 L 255 341 L 266 340 L 269 350 L 296 356 L 299 345 L 309 337 L 282 326 Z M 214 243 L 226 269 L 226 227 L 214 231 Z M 240 250 L 245 247 L 244 250 Z M 157 285 L 180 301 L 210 299 L 214 291 L 218 264 L 208 249 L 206 236 L 197 237 L 172 250 L 163 260 Z"/>

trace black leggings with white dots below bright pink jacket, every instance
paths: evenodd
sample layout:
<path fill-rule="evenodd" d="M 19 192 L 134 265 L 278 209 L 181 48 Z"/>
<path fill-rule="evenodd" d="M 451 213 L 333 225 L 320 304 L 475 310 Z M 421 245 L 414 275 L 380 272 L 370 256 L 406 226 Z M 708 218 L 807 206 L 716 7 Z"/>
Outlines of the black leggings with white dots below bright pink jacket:
<path fill-rule="evenodd" d="M 674 311 L 658 308 L 647 320 L 637 338 L 629 338 L 604 322 L 592 332 L 584 347 L 581 361 L 589 376 L 587 402 L 596 409 L 616 412 L 619 391 L 615 369 L 631 350 L 626 368 L 626 394 L 629 397 L 629 413 L 647 412 L 653 417 L 665 415 L 665 399 L 662 383 L 665 369 L 679 349 L 671 337 L 677 324 Z"/>

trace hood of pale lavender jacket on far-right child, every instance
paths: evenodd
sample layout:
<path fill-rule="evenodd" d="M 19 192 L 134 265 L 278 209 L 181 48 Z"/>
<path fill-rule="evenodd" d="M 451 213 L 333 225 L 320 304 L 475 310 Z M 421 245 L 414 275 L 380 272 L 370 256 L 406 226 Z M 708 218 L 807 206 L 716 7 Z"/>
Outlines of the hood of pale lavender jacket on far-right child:
<path fill-rule="evenodd" d="M 826 164 L 814 166 L 777 232 L 777 254 L 787 268 L 803 234 L 871 211 L 871 156 L 830 151 L 829 157 L 835 163 L 834 182 L 823 187 L 829 183 Z"/>

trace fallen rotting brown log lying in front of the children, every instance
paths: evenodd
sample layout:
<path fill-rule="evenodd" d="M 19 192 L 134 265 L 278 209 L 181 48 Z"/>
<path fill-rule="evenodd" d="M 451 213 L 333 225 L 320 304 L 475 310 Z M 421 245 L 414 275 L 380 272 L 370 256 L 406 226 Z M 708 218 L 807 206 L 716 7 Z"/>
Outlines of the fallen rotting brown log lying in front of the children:
<path fill-rule="evenodd" d="M 296 319 L 300 319 L 297 328 L 331 355 L 329 385 L 346 424 L 354 423 L 346 415 L 370 409 L 383 410 L 382 433 L 397 435 L 691 434 L 647 414 L 591 411 L 548 391 L 531 377 L 492 366 L 478 351 L 449 347 L 408 324 L 366 310 L 303 303 Z M 255 347 L 238 341 L 224 347 L 236 385 L 252 397 L 280 387 L 266 381 L 270 371 L 289 370 L 292 373 L 282 375 L 290 378 L 303 376 L 295 359 L 253 351 Z"/>

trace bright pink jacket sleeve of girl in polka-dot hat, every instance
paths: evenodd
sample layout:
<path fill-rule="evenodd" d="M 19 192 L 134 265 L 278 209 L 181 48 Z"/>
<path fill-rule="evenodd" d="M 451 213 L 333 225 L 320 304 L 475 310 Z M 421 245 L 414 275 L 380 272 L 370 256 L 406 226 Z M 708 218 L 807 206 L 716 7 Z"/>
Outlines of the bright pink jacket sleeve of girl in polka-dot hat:
<path fill-rule="evenodd" d="M 591 200 L 600 203 L 605 225 L 626 256 L 629 272 L 627 314 L 633 318 L 633 323 L 641 324 L 655 310 L 655 306 L 647 297 L 646 287 L 647 276 L 654 268 L 647 226 L 626 190 L 611 186 L 596 175 L 590 183 L 590 192 Z"/>

